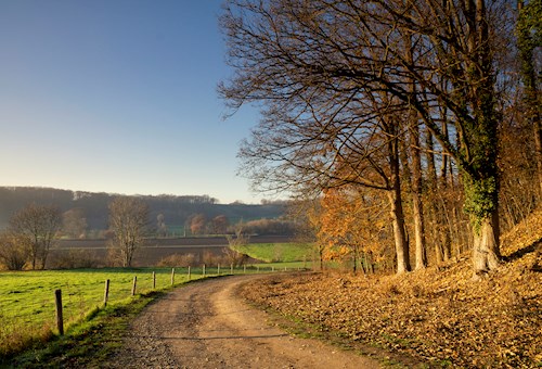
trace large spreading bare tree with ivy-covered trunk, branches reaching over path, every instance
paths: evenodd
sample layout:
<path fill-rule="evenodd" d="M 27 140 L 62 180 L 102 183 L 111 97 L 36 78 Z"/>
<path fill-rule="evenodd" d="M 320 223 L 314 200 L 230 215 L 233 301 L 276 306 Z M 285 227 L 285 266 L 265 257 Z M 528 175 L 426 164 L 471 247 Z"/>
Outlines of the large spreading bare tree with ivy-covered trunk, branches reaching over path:
<path fill-rule="evenodd" d="M 353 138 L 363 144 L 373 137 L 392 141 L 404 127 L 396 117 L 409 122 L 411 114 L 459 165 L 474 230 L 475 272 L 496 268 L 500 115 L 492 36 L 505 7 L 505 1 L 483 0 L 228 1 L 222 28 L 235 74 L 220 92 L 233 109 L 262 106 L 262 123 L 251 137 L 264 144 L 249 142 L 245 151 L 269 164 L 267 175 L 253 173 L 255 181 L 275 175 L 283 188 L 314 180 L 325 188 L 322 175 L 336 179 L 337 157 L 352 166 L 372 158 L 352 161 L 338 149 L 351 150 Z M 438 114 L 442 109 L 444 122 Z M 391 135 L 375 124 L 383 119 L 395 127 Z M 446 129 L 456 136 L 447 137 Z M 349 139 L 337 140 L 338 135 Z M 388 178 L 396 173 L 391 166 Z M 339 181 L 365 180 L 364 173 L 354 174 Z M 390 203 L 401 206 L 397 196 Z M 398 271 L 408 270 L 408 249 L 398 251 L 403 253 L 398 258 L 404 257 Z"/>

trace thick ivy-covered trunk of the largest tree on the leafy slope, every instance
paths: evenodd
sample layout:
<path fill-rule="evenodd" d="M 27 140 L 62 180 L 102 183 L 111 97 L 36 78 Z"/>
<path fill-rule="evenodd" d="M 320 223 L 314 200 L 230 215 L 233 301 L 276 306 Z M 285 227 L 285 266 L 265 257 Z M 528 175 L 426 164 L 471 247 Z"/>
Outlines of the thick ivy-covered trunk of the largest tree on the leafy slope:
<path fill-rule="evenodd" d="M 499 266 L 499 169 L 496 148 L 499 126 L 495 111 L 493 55 L 490 48 L 488 14 L 483 0 L 465 3 L 467 46 L 472 54 L 468 75 L 468 100 L 473 119 L 462 123 L 462 170 L 465 211 L 474 230 L 473 265 L 475 276 Z"/>

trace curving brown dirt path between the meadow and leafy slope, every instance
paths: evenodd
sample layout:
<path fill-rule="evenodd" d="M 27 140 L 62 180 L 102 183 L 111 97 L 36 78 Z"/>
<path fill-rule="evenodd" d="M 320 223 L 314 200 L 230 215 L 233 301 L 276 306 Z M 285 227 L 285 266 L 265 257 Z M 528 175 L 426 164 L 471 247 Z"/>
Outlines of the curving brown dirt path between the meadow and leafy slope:
<path fill-rule="evenodd" d="M 106 368 L 378 368 L 315 340 L 294 339 L 235 297 L 238 276 L 177 289 L 132 323 Z"/>

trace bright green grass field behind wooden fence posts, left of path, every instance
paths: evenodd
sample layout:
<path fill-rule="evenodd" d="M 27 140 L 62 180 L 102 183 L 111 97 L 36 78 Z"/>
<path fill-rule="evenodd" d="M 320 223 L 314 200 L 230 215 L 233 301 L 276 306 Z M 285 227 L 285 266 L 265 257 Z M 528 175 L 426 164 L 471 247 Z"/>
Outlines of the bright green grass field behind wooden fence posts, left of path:
<path fill-rule="evenodd" d="M 170 268 L 144 269 L 77 269 L 0 272 L 0 355 L 5 355 L 30 338 L 56 332 L 54 291 L 62 291 L 65 327 L 82 320 L 103 306 L 105 280 L 109 280 L 108 304 L 131 297 L 133 278 L 136 293 L 171 285 Z M 208 273 L 212 272 L 211 270 Z M 202 278 L 197 270 L 191 279 Z M 175 283 L 188 280 L 186 270 L 176 269 Z"/>

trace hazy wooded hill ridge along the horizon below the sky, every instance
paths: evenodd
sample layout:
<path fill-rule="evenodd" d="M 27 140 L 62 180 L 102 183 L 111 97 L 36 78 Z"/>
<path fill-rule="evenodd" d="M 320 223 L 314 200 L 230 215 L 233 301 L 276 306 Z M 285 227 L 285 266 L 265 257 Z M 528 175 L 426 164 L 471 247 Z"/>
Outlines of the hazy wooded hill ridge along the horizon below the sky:
<path fill-rule="evenodd" d="M 54 205 L 62 212 L 79 209 L 89 230 L 104 230 L 107 228 L 108 203 L 121 194 L 96 193 L 59 190 L 36 187 L 0 187 L 0 229 L 4 229 L 11 216 L 30 203 Z M 230 224 L 243 219 L 254 220 L 261 218 L 279 218 L 285 213 L 284 202 L 269 202 L 258 205 L 241 203 L 219 204 L 208 195 L 136 195 L 149 204 L 151 221 L 158 214 L 164 216 L 169 227 L 184 227 L 186 221 L 196 214 L 203 214 L 207 219 L 219 215 L 228 218 Z"/>

